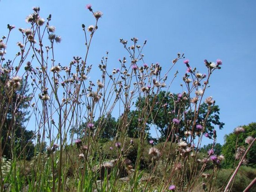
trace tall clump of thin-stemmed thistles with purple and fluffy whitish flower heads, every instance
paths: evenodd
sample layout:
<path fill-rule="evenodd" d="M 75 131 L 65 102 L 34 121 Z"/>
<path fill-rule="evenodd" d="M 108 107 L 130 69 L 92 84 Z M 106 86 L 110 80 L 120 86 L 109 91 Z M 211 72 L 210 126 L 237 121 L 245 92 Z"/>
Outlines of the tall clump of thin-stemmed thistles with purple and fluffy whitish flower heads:
<path fill-rule="evenodd" d="M 96 67 L 88 64 L 90 46 L 103 13 L 90 4 L 86 9 L 95 23 L 81 25 L 85 53 L 67 65 L 55 56 L 62 38 L 51 25 L 52 15 L 44 19 L 40 7 L 33 8 L 26 18 L 29 27 L 18 29 L 20 50 L 6 62 L 7 43 L 15 28 L 7 25 L 9 34 L 0 40 L 0 138 L 4 131 L 7 136 L 0 140 L 0 156 L 7 146 L 12 155 L 9 169 L 4 167 L 6 160 L 0 159 L 1 191 L 6 183 L 11 191 L 192 191 L 201 177 L 203 190 L 213 191 L 224 157 L 213 150 L 217 134 L 209 118 L 215 100 L 206 94 L 210 77 L 221 69 L 222 61 L 204 60 L 204 74 L 178 53 L 164 71 L 158 63 L 146 64 L 146 41 L 120 38 L 127 55 L 110 69 L 106 52 L 98 65 L 98 80 L 91 80 L 88 77 Z M 173 94 L 170 90 L 178 71 L 173 77 L 171 73 L 180 60 L 186 73 L 182 92 Z M 203 117 L 202 106 L 206 108 Z M 159 123 L 162 112 L 166 118 L 160 128 L 163 137 L 149 140 L 149 129 Z M 114 113 L 119 114 L 118 120 L 107 132 Z M 28 122 L 33 122 L 34 130 L 22 142 L 25 128 L 20 135 L 16 130 Z M 203 137 L 213 144 L 208 155 L 200 158 Z M 254 141 L 247 138 L 246 143 Z M 27 173 L 30 150 L 33 157 Z M 158 173 L 161 177 L 156 178 Z M 123 176 L 128 182 L 120 184 Z"/>

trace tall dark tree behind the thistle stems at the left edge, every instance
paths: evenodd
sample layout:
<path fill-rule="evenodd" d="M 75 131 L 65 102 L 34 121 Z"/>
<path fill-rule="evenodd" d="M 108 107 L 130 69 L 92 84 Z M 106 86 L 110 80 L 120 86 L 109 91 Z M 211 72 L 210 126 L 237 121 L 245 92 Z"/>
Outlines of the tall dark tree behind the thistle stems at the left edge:
<path fill-rule="evenodd" d="M 28 120 L 27 109 L 31 94 L 28 93 L 29 89 L 24 80 L 21 80 L 18 89 L 10 92 L 6 87 L 9 80 L 6 74 L 1 74 L 1 155 L 7 158 L 15 155 L 30 160 L 34 155 L 34 133 L 26 130 L 24 123 Z"/>

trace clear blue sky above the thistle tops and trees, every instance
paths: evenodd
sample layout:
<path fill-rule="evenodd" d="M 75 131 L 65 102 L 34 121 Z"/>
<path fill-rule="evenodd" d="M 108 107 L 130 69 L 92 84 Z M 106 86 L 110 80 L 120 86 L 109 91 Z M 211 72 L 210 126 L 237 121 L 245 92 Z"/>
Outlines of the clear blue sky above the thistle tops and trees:
<path fill-rule="evenodd" d="M 88 3 L 94 11 L 104 13 L 90 50 L 89 62 L 95 68 L 106 51 L 110 67 L 117 67 L 118 59 L 127 56 L 119 38 L 129 40 L 132 37 L 137 37 L 141 44 L 147 40 L 146 63 L 158 62 L 164 68 L 178 52 L 184 52 L 186 59 L 200 72 L 206 72 L 204 59 L 214 62 L 222 59 L 222 69 L 213 74 L 206 93 L 216 100 L 220 120 L 225 123 L 223 130 L 217 130 L 217 142 L 223 144 L 224 135 L 235 127 L 256 121 L 256 1 L 1 0 L 0 35 L 7 35 L 7 24 L 15 25 L 8 46 L 15 47 L 21 38 L 18 28 L 28 27 L 26 16 L 32 13 L 32 7 L 40 6 L 41 17 L 46 19 L 51 13 L 51 24 L 62 37 L 56 47 L 56 60 L 67 64 L 73 56 L 85 54 L 81 24 L 94 24 L 92 14 L 85 9 Z M 8 55 L 13 56 L 15 49 L 7 49 Z M 179 62 L 173 74 L 176 70 L 179 75 L 170 89 L 173 93 L 181 92 L 179 84 L 186 67 Z"/>

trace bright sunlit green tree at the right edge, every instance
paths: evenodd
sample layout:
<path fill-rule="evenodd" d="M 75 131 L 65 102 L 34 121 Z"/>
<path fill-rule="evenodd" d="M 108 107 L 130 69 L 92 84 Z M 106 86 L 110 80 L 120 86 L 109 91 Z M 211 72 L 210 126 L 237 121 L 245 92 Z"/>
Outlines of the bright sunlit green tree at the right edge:
<path fill-rule="evenodd" d="M 240 134 L 229 133 L 225 135 L 225 143 L 222 146 L 222 153 L 225 157 L 226 168 L 234 166 L 236 146 L 244 146 L 247 148 L 248 144 L 245 143 L 245 139 L 248 136 L 256 137 L 256 123 L 250 123 L 249 125 L 242 126 L 244 132 Z M 256 167 L 256 145 L 254 144 L 247 154 L 248 166 Z M 238 163 L 238 160 L 237 160 Z"/>

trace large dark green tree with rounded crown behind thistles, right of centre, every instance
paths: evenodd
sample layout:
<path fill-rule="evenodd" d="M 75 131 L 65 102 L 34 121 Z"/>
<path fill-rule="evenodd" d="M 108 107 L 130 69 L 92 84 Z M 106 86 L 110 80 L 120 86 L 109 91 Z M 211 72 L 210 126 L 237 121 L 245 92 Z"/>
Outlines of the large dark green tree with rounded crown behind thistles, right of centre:
<path fill-rule="evenodd" d="M 170 133 L 170 125 L 173 118 L 177 118 L 178 114 L 183 114 L 187 109 L 189 109 L 189 99 L 187 99 L 185 94 L 171 94 L 170 92 L 165 91 L 161 91 L 157 95 L 151 95 L 149 97 L 149 105 L 146 111 L 149 111 L 150 114 L 146 123 L 148 125 L 155 124 L 161 133 L 160 140 L 165 140 Z M 144 97 L 137 99 L 136 107 L 138 106 L 145 106 Z M 140 108 L 139 110 L 142 111 L 143 109 Z M 213 105 L 210 108 L 210 111 L 206 103 L 202 103 L 200 105 L 196 124 L 203 121 L 207 117 L 207 112 L 209 112 L 205 121 L 205 132 L 209 133 L 210 137 L 213 136 L 213 129 L 215 126 L 218 126 L 220 129 L 224 126 L 224 123 L 219 121 L 219 111 L 220 109 L 218 105 Z M 129 126 L 129 132 L 135 133 L 138 128 L 138 118 L 136 118 L 135 112 L 132 113 L 135 114 L 135 118 L 132 122 L 133 124 Z M 179 134 L 183 135 L 183 131 L 186 126 L 189 126 L 187 122 L 193 118 L 194 111 L 186 113 L 185 118 L 180 121 Z"/>

